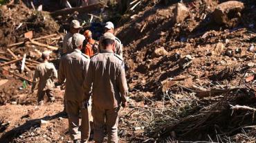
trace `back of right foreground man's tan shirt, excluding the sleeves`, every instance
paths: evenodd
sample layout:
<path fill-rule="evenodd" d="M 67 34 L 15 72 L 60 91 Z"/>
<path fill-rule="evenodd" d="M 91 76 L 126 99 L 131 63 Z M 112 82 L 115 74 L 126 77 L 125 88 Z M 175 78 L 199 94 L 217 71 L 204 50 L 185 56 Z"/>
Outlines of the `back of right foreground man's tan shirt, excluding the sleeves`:
<path fill-rule="evenodd" d="M 113 52 L 102 50 L 91 58 L 93 68 L 93 104 L 102 109 L 113 109 L 120 104 L 118 88 L 120 70 L 124 68 L 122 58 Z"/>

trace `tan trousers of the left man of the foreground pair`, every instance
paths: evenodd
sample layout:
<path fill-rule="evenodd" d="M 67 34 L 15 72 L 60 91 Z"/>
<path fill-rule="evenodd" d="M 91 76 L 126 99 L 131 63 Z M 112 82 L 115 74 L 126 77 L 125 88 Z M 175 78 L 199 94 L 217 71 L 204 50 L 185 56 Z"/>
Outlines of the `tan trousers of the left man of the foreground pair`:
<path fill-rule="evenodd" d="M 82 109 L 82 102 L 66 100 L 66 113 L 68 113 L 68 131 L 72 140 L 86 142 L 90 137 L 89 110 Z M 82 115 L 81 132 L 79 128 L 79 114 Z"/>

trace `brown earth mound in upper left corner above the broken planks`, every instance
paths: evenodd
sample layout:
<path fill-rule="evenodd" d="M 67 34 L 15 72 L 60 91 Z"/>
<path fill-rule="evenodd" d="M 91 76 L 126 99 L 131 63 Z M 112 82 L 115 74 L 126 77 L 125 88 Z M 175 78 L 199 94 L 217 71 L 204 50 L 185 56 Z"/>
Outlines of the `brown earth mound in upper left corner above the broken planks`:
<path fill-rule="evenodd" d="M 0 6 L 0 47 L 24 41 L 24 33 L 34 37 L 58 32 L 60 26 L 48 12 L 30 10 L 23 3 Z"/>

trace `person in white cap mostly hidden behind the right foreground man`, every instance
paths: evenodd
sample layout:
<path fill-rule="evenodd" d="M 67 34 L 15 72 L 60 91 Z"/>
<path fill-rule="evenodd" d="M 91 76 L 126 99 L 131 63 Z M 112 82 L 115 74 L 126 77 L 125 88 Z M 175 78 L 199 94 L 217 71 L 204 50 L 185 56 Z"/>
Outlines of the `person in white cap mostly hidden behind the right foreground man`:
<path fill-rule="evenodd" d="M 115 32 L 115 27 L 111 21 L 107 22 L 104 28 L 105 28 L 105 32 L 110 32 L 111 34 L 114 34 Z M 122 43 L 117 37 L 116 37 L 115 43 L 116 43 L 116 48 L 114 49 L 114 52 L 122 57 Z M 100 45 L 100 50 L 102 50 L 102 48 L 103 48 L 102 45 Z"/>

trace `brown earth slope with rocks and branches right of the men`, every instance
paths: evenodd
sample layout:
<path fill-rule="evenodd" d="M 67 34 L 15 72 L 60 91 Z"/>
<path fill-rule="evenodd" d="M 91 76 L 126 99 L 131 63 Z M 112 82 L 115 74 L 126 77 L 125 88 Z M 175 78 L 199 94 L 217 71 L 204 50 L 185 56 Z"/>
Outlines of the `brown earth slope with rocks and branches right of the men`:
<path fill-rule="evenodd" d="M 253 110 L 232 106 L 255 108 L 255 1 L 165 3 L 142 3 L 118 29 L 132 108 L 122 127 L 138 142 L 253 140 Z"/>

